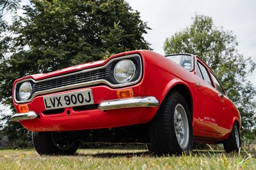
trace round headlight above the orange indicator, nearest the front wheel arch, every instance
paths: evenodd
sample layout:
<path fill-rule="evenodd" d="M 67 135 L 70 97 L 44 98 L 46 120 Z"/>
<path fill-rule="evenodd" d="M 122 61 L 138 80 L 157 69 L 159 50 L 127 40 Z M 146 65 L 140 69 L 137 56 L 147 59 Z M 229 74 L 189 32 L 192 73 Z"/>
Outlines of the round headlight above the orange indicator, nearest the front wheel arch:
<path fill-rule="evenodd" d="M 119 83 L 124 84 L 130 82 L 134 77 L 136 66 L 130 59 L 122 59 L 116 63 L 114 68 L 115 80 Z"/>

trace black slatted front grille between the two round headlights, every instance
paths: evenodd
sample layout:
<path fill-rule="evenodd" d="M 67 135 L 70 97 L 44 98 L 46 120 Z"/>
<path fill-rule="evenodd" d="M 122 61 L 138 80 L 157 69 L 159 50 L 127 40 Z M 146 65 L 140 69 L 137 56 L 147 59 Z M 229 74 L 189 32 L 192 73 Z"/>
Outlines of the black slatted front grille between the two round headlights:
<path fill-rule="evenodd" d="M 48 89 L 61 88 L 84 82 L 98 81 L 100 79 L 106 79 L 106 77 L 108 77 L 108 71 L 106 68 L 67 75 L 65 77 L 51 79 L 49 81 L 37 82 L 33 86 L 33 92 L 36 93 L 37 91 L 45 91 Z"/>

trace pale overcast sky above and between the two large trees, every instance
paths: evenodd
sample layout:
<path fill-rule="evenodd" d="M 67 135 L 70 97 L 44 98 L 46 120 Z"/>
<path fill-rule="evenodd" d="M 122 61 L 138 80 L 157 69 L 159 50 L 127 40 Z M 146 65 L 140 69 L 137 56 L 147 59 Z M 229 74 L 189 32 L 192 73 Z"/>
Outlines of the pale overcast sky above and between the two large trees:
<path fill-rule="evenodd" d="M 152 30 L 144 35 L 154 51 L 164 54 L 164 40 L 192 24 L 191 17 L 212 17 L 214 25 L 233 31 L 239 43 L 237 50 L 256 62 L 256 1 L 255 0 L 126 0 L 141 20 Z M 256 71 L 248 77 L 256 88 Z"/>

